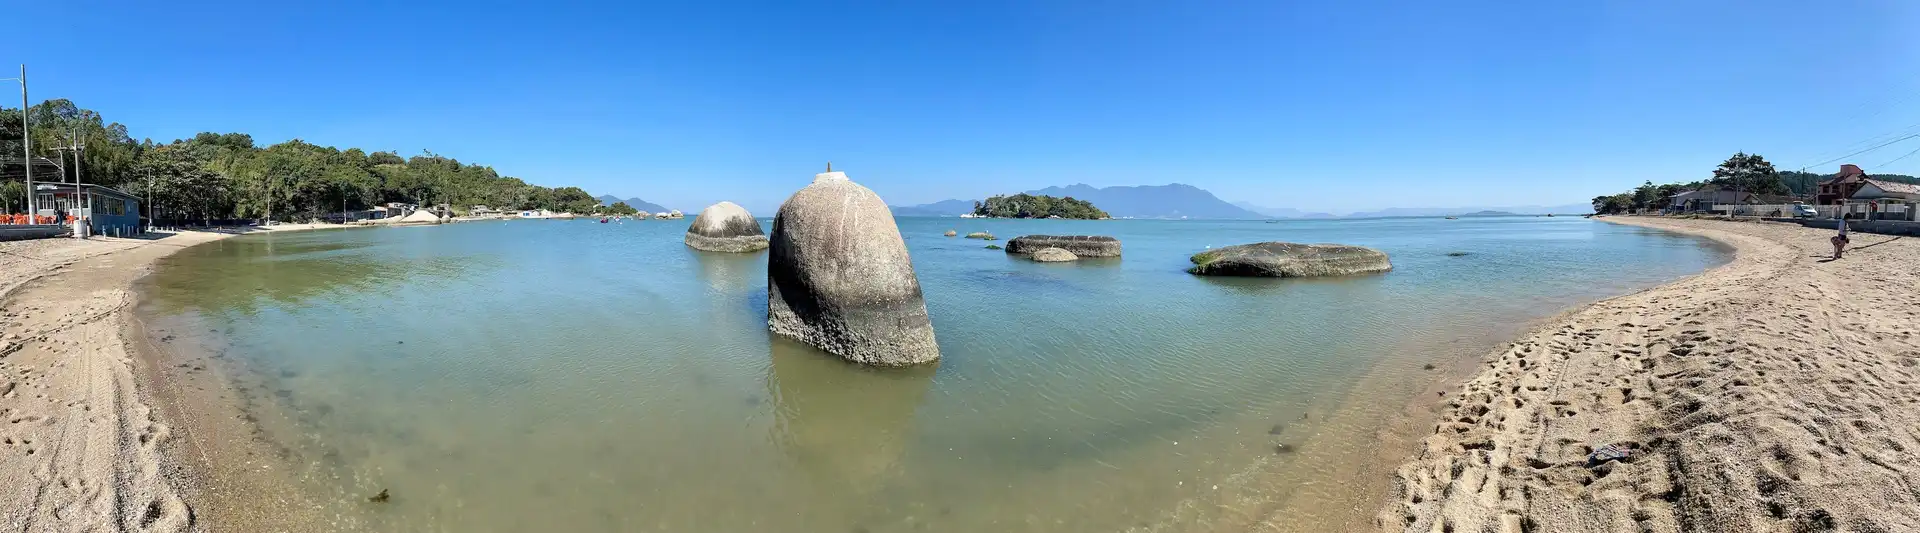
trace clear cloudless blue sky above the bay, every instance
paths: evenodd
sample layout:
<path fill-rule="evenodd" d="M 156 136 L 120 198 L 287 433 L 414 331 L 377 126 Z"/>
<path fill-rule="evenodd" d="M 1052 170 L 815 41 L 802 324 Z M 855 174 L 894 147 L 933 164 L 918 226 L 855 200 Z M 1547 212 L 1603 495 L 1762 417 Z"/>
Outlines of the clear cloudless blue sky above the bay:
<path fill-rule="evenodd" d="M 182 4 L 13 6 L 40 23 L 0 63 L 136 138 L 432 150 L 760 215 L 826 161 L 895 205 L 1185 182 L 1357 211 L 1920 132 L 1920 6 L 1893 0 Z M 1876 167 L 1914 148 L 1847 161 L 1920 174 Z"/>

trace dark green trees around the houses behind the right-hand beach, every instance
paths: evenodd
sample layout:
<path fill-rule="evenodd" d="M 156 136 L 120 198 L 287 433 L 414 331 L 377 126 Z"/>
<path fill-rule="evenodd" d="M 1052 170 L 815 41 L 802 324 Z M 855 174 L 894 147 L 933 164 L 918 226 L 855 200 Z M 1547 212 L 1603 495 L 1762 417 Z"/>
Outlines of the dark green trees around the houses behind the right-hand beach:
<path fill-rule="evenodd" d="M 1759 153 L 1736 151 L 1734 157 L 1728 157 L 1720 163 L 1720 167 L 1715 167 L 1713 176 L 1703 182 L 1653 184 L 1653 180 L 1647 180 L 1622 194 L 1596 196 L 1594 213 L 1613 215 L 1636 209 L 1663 209 L 1667 207 L 1668 197 L 1707 186 L 1751 192 L 1757 196 L 1812 196 L 1820 182 L 1834 176 L 1837 174 L 1814 174 L 1801 171 L 1782 173 L 1774 169 L 1774 163 L 1768 163 L 1766 157 L 1761 157 Z M 1872 174 L 1872 178 L 1920 184 L 1920 178 L 1903 174 Z"/>

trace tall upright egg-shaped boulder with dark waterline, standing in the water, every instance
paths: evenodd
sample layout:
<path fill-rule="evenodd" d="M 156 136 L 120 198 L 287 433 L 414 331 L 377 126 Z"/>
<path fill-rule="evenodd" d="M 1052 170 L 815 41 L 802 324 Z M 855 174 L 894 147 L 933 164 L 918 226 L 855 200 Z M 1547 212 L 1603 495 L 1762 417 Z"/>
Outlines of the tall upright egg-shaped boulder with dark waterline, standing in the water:
<path fill-rule="evenodd" d="M 843 173 L 814 182 L 774 215 L 766 328 L 847 360 L 904 366 L 941 357 L 920 278 L 893 211 Z"/>

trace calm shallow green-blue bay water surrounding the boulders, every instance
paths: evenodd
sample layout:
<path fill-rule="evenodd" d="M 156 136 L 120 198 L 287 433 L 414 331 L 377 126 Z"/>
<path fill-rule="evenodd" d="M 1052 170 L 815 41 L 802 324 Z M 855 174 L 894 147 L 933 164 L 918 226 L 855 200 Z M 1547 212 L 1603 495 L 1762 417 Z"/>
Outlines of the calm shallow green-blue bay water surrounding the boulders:
<path fill-rule="evenodd" d="M 1584 219 L 900 219 L 945 359 L 864 370 L 770 337 L 766 253 L 687 249 L 685 224 L 244 236 L 167 259 L 142 313 L 217 332 L 332 527 L 1185 529 L 1246 504 L 1213 493 L 1254 485 L 1373 368 L 1726 261 Z M 948 228 L 1108 234 L 1125 259 L 1041 265 Z M 1183 272 L 1263 240 L 1396 268 Z M 394 502 L 365 504 L 380 489 Z"/>

